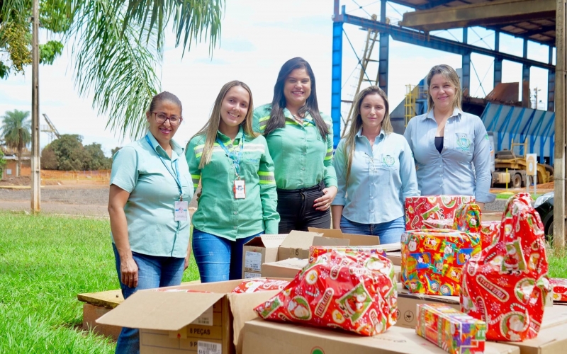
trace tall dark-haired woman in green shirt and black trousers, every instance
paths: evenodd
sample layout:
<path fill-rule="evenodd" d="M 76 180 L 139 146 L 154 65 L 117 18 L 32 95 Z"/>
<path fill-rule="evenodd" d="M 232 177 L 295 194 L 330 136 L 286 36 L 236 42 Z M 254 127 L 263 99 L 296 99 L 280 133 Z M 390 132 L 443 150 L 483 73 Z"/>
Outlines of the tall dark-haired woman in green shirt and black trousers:
<path fill-rule="evenodd" d="M 279 233 L 330 228 L 337 195 L 332 120 L 319 111 L 315 75 L 305 59 L 283 64 L 272 102 L 254 110 L 254 131 L 266 137 L 274 159 Z"/>

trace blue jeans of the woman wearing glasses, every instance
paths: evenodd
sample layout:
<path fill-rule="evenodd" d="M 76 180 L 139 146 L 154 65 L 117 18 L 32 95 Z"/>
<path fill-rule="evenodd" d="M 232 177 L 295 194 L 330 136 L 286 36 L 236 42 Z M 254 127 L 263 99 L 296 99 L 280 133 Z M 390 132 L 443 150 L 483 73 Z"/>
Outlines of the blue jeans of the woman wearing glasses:
<path fill-rule="evenodd" d="M 153 289 L 155 287 L 168 287 L 181 284 L 185 258 L 147 256 L 146 254 L 132 252 L 137 264 L 137 287 L 128 287 L 120 280 L 120 256 L 116 245 L 112 243 L 114 258 L 116 258 L 116 272 L 122 289 L 124 299 L 137 290 Z M 116 354 L 140 353 L 140 333 L 137 329 L 123 327 L 116 343 Z"/>

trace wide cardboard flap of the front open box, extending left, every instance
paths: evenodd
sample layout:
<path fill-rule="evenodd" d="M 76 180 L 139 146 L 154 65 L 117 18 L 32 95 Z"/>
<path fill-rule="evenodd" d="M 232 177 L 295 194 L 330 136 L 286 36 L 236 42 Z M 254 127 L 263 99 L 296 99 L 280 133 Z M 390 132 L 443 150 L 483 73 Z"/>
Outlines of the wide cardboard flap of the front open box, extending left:
<path fill-rule="evenodd" d="M 101 316 L 96 323 L 177 331 L 224 296 L 216 293 L 139 291 Z"/>

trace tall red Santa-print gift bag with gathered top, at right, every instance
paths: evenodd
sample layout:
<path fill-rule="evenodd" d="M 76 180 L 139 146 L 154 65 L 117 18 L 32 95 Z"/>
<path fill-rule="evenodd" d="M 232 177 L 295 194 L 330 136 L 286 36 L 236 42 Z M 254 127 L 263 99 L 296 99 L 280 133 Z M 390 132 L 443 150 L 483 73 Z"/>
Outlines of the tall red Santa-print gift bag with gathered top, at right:
<path fill-rule="evenodd" d="M 507 202 L 497 239 L 463 271 L 461 309 L 486 322 L 490 341 L 535 338 L 544 316 L 547 278 L 544 227 L 527 193 Z"/>

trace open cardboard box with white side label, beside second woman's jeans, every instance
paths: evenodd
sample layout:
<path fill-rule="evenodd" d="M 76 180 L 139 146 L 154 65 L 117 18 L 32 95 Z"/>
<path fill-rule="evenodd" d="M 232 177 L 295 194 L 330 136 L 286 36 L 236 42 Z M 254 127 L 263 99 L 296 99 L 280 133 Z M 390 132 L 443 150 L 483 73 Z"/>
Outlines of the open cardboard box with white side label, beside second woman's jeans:
<path fill-rule="evenodd" d="M 278 259 L 278 247 L 287 234 L 254 237 L 242 248 L 242 279 L 262 275 L 262 264 Z"/>

